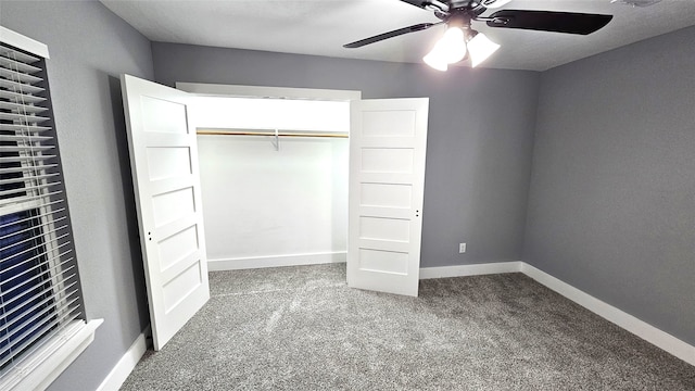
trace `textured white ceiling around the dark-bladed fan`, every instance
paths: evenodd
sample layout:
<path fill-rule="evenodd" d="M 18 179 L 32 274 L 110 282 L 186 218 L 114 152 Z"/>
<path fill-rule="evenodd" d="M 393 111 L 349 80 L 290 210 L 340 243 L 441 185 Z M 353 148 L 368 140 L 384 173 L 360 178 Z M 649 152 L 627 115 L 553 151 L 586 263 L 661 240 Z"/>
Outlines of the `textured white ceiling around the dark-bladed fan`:
<path fill-rule="evenodd" d="M 399 0 L 101 2 L 152 41 L 336 58 L 419 63 L 445 28 L 437 26 L 358 49 L 344 49 L 342 45 L 348 42 L 439 20 Z M 604 13 L 614 15 L 614 20 L 589 36 L 489 28 L 482 22 L 473 22 L 475 29 L 502 45 L 481 67 L 545 71 L 695 25 L 695 0 L 664 0 L 647 8 L 610 0 L 513 0 L 503 9 Z"/>

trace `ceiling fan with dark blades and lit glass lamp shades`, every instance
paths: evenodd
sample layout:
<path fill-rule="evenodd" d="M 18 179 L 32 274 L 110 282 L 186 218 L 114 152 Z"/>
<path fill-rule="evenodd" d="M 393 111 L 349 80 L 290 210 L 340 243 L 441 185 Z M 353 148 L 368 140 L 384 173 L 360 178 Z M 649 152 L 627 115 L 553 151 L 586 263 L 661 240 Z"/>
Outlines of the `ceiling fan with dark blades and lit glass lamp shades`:
<path fill-rule="evenodd" d="M 471 22 L 485 22 L 489 27 L 519 28 L 541 31 L 589 35 L 610 22 L 612 15 L 577 12 L 501 10 L 490 16 L 481 16 L 488 9 L 500 8 L 511 0 L 401 0 L 408 4 L 432 11 L 441 22 L 420 23 L 408 27 L 361 39 L 344 48 L 354 49 L 400 35 L 416 33 L 432 26 L 446 24 L 444 36 L 422 60 L 439 71 L 446 71 L 448 64 L 470 58 L 471 66 L 477 66 L 492 55 L 500 45 L 484 34 L 472 29 Z"/>

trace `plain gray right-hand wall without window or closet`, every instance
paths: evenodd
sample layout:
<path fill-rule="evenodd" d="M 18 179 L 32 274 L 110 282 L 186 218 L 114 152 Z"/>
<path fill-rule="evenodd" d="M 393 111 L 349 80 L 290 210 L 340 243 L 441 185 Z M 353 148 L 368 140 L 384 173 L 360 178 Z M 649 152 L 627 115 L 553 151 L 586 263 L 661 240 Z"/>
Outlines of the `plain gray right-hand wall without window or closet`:
<path fill-rule="evenodd" d="M 695 344 L 695 27 L 543 73 L 525 261 Z"/>

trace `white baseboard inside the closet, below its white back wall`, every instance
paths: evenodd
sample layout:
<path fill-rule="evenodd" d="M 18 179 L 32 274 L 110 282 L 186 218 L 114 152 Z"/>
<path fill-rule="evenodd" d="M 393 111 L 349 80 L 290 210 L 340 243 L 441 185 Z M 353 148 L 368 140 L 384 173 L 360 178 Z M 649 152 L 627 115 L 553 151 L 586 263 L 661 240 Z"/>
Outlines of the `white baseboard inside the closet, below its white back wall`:
<path fill-rule="evenodd" d="M 346 251 L 336 251 L 314 254 L 254 256 L 231 260 L 207 260 L 207 270 L 224 272 L 263 267 L 318 265 L 327 263 L 341 263 L 345 262 L 346 258 Z"/>

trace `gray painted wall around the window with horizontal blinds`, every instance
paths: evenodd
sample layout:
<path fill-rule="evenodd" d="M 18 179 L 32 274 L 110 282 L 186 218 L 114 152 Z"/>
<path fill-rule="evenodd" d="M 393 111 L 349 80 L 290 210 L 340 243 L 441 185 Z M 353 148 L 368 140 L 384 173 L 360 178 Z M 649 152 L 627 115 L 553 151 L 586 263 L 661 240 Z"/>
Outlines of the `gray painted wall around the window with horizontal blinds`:
<path fill-rule="evenodd" d="M 105 319 L 50 389 L 93 390 L 149 324 L 117 77 L 153 78 L 150 41 L 94 1 L 2 1 L 0 24 L 49 46 L 85 305 Z"/>

